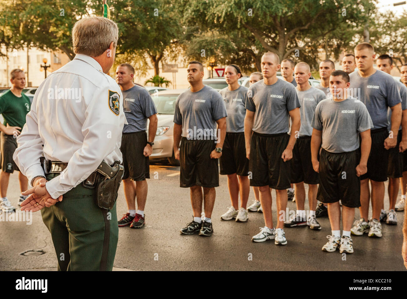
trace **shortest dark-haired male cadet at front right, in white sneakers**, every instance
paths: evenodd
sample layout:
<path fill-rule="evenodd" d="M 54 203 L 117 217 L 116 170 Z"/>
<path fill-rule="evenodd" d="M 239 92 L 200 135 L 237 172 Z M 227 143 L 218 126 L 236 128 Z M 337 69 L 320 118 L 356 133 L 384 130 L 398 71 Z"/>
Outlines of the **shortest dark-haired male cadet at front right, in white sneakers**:
<path fill-rule="evenodd" d="M 319 172 L 317 198 L 328 204 L 332 230 L 322 251 L 333 252 L 339 246 L 340 253 L 353 253 L 350 228 L 354 208 L 360 207 L 360 176 L 368 171 L 373 124 L 366 106 L 348 95 L 347 73 L 335 70 L 330 75 L 329 87 L 332 98 L 320 101 L 315 108 L 311 137 L 312 164 Z M 339 200 L 342 201 L 342 235 Z"/>

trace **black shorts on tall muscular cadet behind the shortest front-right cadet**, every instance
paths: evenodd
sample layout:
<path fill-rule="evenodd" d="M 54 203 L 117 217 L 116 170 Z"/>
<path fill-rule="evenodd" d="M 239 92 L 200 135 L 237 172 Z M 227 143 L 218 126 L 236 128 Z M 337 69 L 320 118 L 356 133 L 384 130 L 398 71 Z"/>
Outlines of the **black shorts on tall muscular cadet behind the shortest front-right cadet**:
<path fill-rule="evenodd" d="M 371 130 L 372 147 L 368 159 L 368 172 L 360 177 L 361 180 L 369 178 L 376 182 L 387 180 L 387 167 L 389 165 L 389 151 L 384 148 L 384 141 L 389 136 L 387 128 Z M 359 147 L 359 154 L 361 153 Z"/>

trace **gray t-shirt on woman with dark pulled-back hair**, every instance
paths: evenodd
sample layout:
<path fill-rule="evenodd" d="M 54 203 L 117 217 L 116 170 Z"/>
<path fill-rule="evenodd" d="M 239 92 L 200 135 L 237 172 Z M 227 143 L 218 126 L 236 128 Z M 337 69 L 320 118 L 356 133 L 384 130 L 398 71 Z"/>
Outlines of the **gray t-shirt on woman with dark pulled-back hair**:
<path fill-rule="evenodd" d="M 247 90 L 245 86 L 230 91 L 229 87 L 223 88 L 219 93 L 225 101 L 226 112 L 226 132 L 240 133 L 245 131 L 246 99 Z"/>

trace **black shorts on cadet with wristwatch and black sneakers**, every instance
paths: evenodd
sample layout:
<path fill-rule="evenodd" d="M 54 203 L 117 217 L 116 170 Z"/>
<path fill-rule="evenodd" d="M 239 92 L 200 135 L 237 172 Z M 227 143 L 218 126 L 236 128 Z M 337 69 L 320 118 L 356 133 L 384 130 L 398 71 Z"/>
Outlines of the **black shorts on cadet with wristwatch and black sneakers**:
<path fill-rule="evenodd" d="M 179 187 L 201 186 L 212 188 L 219 186 L 218 159 L 212 159 L 210 153 L 217 143 L 213 140 L 188 140 L 181 138 L 179 145 L 180 176 Z M 223 153 L 222 153 L 223 155 Z"/>

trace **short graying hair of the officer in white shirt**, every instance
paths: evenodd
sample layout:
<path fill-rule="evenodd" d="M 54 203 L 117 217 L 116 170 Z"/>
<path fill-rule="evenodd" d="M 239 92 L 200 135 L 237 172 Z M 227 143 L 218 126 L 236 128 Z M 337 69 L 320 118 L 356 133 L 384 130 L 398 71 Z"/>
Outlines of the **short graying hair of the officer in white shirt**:
<path fill-rule="evenodd" d="M 82 18 L 72 28 L 75 54 L 91 57 L 102 55 L 113 42 L 116 47 L 119 35 L 117 24 L 103 17 Z"/>

